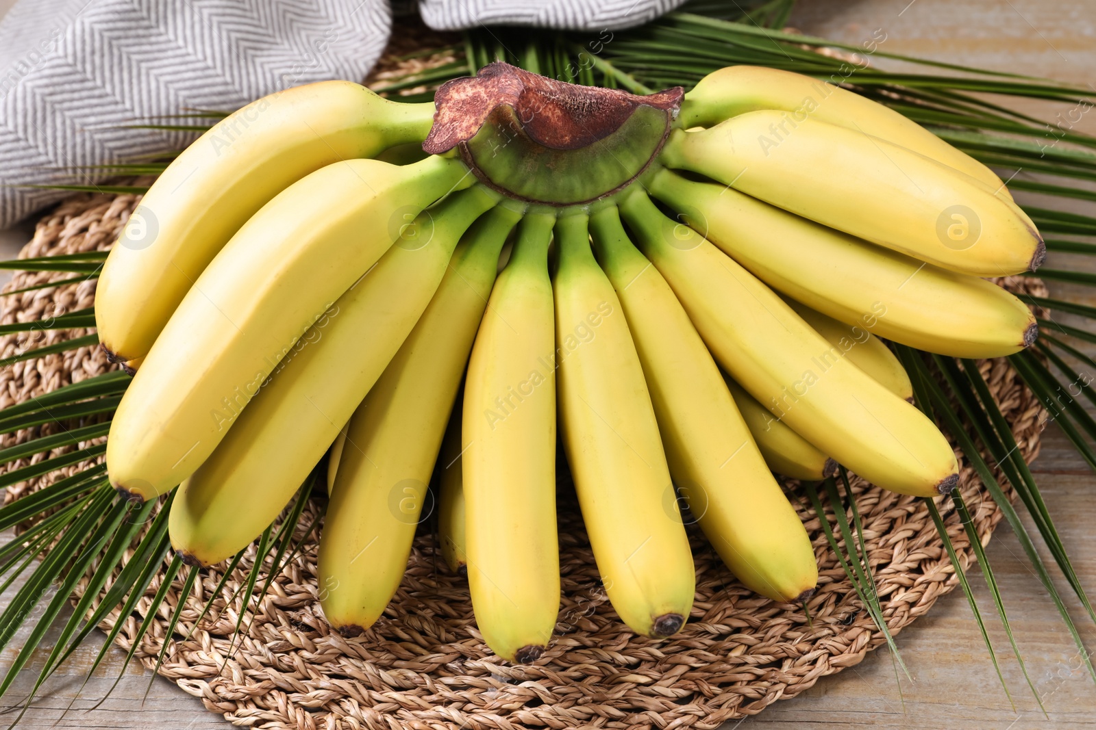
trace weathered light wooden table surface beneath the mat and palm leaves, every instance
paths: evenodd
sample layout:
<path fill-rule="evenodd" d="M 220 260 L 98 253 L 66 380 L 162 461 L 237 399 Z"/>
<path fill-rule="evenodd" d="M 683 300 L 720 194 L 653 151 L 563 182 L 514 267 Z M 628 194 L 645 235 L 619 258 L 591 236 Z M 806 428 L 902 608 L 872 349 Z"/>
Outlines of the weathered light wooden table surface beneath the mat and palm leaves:
<path fill-rule="evenodd" d="M 10 0 L 0 0 L 0 13 Z M 791 20 L 800 31 L 860 44 L 886 34 L 880 49 L 984 68 L 1051 77 L 1091 86 L 1096 100 L 1096 0 L 802 0 Z M 884 68 L 897 65 L 877 60 Z M 1053 118 L 1071 105 L 1017 104 L 1041 118 Z M 1083 116 L 1076 128 L 1096 134 L 1096 113 Z M 1021 201 L 1036 198 L 1018 195 Z M 1091 204 L 1073 206 L 1093 215 Z M 20 234 L 15 234 L 16 240 Z M 3 245 L 0 235 L 0 246 Z M 11 237 L 11 236 L 9 236 Z M 1049 266 L 1088 267 L 1092 262 L 1051 258 Z M 1057 294 L 1071 294 L 1053 286 Z M 1096 304 L 1096 298 L 1089 297 Z M 1062 321 L 1066 321 L 1062 317 Z M 1096 375 L 1096 373 L 1093 373 Z M 1034 472 L 1062 540 L 1081 580 L 1096 596 L 1096 475 L 1073 452 L 1057 427 L 1044 436 L 1042 454 Z M 1023 511 L 1023 510 L 1020 510 Z M 1029 524 L 1030 528 L 1030 524 Z M 970 576 L 986 617 L 1002 672 L 1012 693 L 1009 703 L 990 663 L 970 607 L 958 590 L 941 599 L 933 611 L 902 631 L 898 647 L 910 676 L 897 676 L 890 652 L 869 654 L 858 667 L 822 679 L 799 697 L 779 702 L 760 716 L 730 722 L 724 729 L 766 727 L 871 728 L 959 727 L 986 730 L 1025 728 L 1082 728 L 1096 726 L 1096 683 L 1081 658 L 1058 613 L 1031 572 L 1023 551 L 1007 524 L 998 528 L 989 547 L 1006 609 L 1028 673 L 1047 715 L 1039 709 L 1020 668 L 1008 648 L 995 616 L 989 592 L 977 570 Z M 1049 556 L 1044 557 L 1051 561 Z M 1063 595 L 1064 581 L 1058 581 Z M 5 596 L 7 598 L 7 596 Z M 1096 650 L 1096 626 L 1085 618 L 1075 600 L 1069 601 L 1088 646 Z M 48 644 L 48 642 L 47 642 Z M 18 645 L 18 641 L 16 641 Z M 204 709 L 198 699 L 174 684 L 130 667 L 112 696 L 91 708 L 118 673 L 121 651 L 114 651 L 82 692 L 85 669 L 98 650 L 91 641 L 52 680 L 32 710 L 21 720 L 27 730 L 50 727 L 118 729 L 205 730 L 231 727 Z M 9 649 L 0 667 L 11 661 Z M 32 686 L 37 667 L 24 671 L 3 700 L 10 707 Z M 146 690 L 148 694 L 146 697 Z M 70 707 L 67 712 L 66 708 Z M 13 719 L 14 716 L 0 715 Z M 10 722 L 8 719 L 7 722 Z"/>

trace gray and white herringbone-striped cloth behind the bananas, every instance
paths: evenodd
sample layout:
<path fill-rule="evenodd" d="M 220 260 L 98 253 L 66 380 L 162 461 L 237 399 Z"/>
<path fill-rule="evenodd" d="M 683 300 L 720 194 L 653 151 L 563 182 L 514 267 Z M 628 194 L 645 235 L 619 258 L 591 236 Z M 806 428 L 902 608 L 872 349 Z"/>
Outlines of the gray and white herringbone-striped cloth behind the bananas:
<path fill-rule="evenodd" d="M 436 30 L 615 30 L 683 0 L 423 0 Z M 398 3 L 407 5 L 407 3 Z M 361 81 L 388 0 L 19 0 L 0 21 L 0 229 L 88 184 L 94 167 L 186 144 L 186 109 L 235 109 L 323 79 Z"/>

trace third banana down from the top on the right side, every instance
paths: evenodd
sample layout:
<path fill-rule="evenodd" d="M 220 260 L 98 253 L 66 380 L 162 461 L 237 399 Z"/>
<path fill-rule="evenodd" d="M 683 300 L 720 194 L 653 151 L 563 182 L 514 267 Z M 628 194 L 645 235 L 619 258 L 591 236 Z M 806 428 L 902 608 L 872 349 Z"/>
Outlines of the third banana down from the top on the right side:
<path fill-rule="evenodd" d="M 1028 308 L 984 279 L 925 264 L 669 170 L 654 173 L 650 186 L 751 274 L 845 324 L 963 358 L 1009 355 L 1031 345 L 1038 334 Z"/>

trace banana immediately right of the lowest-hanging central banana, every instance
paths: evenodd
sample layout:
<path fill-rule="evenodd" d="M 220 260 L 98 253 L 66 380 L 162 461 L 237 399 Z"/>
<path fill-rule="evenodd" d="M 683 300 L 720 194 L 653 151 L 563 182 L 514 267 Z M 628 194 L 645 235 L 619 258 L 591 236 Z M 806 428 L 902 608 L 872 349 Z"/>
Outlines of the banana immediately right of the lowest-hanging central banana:
<path fill-rule="evenodd" d="M 584 213 L 556 225 L 556 359 L 563 445 L 605 592 L 643 636 L 676 634 L 693 605 L 693 554 L 651 396 Z M 473 525 L 468 525 L 469 541 Z"/>

